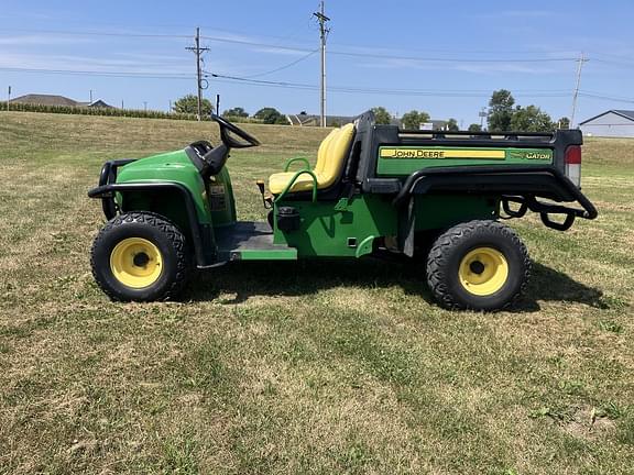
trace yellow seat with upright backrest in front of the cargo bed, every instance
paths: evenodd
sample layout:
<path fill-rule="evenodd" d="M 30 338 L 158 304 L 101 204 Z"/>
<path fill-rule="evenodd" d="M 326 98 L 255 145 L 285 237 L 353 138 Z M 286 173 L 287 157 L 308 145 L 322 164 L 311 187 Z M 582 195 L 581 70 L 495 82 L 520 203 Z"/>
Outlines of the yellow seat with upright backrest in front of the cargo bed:
<path fill-rule="evenodd" d="M 319 146 L 317 163 L 313 173 L 317 177 L 317 188 L 324 189 L 332 186 L 343 168 L 350 144 L 354 137 L 354 125 L 348 124 L 341 129 L 335 129 Z M 280 195 L 286 189 L 288 183 L 295 176 L 295 172 L 284 172 L 269 177 L 269 190 L 273 195 Z M 313 189 L 313 177 L 303 174 L 297 177 L 291 191 L 310 191 Z"/>

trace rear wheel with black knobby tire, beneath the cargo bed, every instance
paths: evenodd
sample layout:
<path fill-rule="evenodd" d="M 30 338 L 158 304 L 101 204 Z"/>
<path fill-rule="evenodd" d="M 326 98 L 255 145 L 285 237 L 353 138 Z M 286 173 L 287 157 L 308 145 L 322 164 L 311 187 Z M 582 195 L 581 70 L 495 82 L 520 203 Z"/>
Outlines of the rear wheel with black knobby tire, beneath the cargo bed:
<path fill-rule="evenodd" d="M 496 221 L 455 225 L 438 236 L 427 256 L 429 289 L 450 309 L 507 308 L 526 289 L 529 275 L 526 246 Z"/>

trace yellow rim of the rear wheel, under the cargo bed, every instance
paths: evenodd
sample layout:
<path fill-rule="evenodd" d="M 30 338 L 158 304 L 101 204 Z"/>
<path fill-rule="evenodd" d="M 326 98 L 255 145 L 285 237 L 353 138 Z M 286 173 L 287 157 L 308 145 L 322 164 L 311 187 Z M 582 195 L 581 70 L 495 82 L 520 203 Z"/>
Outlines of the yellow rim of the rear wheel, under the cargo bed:
<path fill-rule="evenodd" d="M 490 296 L 500 290 L 509 279 L 509 263 L 500 251 L 477 247 L 462 257 L 458 277 L 470 294 Z"/>

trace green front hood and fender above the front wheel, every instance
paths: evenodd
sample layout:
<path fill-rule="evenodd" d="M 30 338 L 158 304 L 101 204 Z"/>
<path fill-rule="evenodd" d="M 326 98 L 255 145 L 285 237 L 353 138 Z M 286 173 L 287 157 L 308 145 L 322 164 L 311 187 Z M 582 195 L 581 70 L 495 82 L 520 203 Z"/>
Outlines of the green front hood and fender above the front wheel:
<path fill-rule="evenodd" d="M 211 210 L 205 183 L 198 169 L 187 157 L 185 151 L 177 151 L 142 158 L 119 169 L 117 183 L 176 183 L 189 190 L 194 198 L 194 205 L 198 214 L 198 220 L 203 224 L 211 223 Z M 118 194 L 121 205 L 122 197 Z M 184 206 L 176 197 L 165 196 L 164 199 L 154 194 L 130 192 L 125 199 L 127 209 L 164 210 L 161 214 L 167 218 L 184 216 Z M 160 200 L 157 203 L 156 200 Z"/>

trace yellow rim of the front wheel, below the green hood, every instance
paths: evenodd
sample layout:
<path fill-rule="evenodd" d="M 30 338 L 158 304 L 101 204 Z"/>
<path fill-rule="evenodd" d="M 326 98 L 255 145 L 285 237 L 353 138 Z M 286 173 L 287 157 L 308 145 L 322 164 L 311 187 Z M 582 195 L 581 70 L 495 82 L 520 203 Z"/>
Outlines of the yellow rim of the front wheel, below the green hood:
<path fill-rule="evenodd" d="M 112 250 L 110 269 L 121 284 L 140 289 L 158 280 L 163 273 L 163 258 L 158 247 L 150 241 L 128 238 Z"/>

